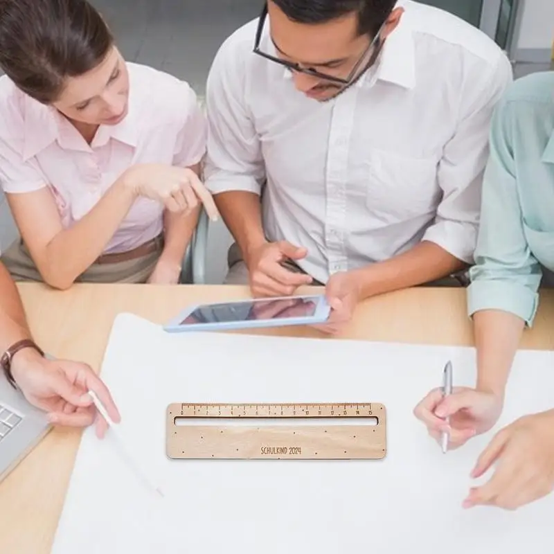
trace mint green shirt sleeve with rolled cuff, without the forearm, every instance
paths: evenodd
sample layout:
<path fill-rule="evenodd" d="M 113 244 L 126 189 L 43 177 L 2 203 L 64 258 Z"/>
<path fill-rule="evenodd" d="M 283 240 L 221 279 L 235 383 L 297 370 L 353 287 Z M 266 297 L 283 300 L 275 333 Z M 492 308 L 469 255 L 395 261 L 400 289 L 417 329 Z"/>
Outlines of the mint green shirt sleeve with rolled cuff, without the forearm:
<path fill-rule="evenodd" d="M 481 223 L 467 289 L 470 316 L 481 310 L 501 310 L 533 324 L 542 269 L 530 252 L 524 233 L 515 160 L 511 111 L 502 101 L 492 118 L 490 159 L 483 180 Z M 521 132 L 521 121 L 518 132 Z M 529 132 L 533 132 L 531 122 Z M 521 188 L 524 183 L 519 183 Z"/>

